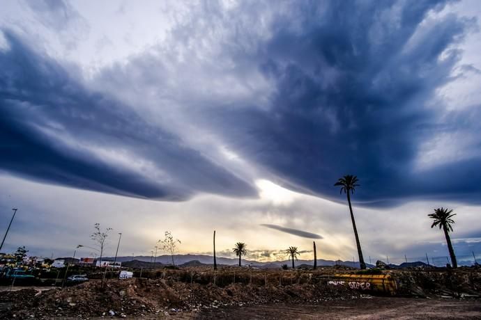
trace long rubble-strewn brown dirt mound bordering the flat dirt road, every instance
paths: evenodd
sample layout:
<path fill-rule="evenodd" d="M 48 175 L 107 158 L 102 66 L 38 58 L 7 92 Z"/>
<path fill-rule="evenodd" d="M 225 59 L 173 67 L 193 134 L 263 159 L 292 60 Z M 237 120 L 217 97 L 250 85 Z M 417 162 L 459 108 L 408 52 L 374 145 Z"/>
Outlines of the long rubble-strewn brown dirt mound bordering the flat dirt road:
<path fill-rule="evenodd" d="M 8 293 L 10 294 L 10 293 Z M 52 289 L 35 296 L 21 290 L 4 297 L 12 303 L 3 315 L 12 319 L 34 317 L 155 317 L 165 312 L 199 311 L 222 306 L 264 303 L 319 303 L 358 298 L 356 291 L 315 285 L 253 286 L 241 283 L 217 287 L 162 279 L 112 280 L 77 287 Z"/>

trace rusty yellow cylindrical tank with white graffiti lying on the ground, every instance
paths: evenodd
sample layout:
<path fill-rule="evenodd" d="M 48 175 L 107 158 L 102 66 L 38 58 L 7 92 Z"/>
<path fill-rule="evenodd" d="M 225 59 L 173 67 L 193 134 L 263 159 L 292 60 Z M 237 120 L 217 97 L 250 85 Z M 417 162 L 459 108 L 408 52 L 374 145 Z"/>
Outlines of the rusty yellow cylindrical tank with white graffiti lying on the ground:
<path fill-rule="evenodd" d="M 328 285 L 349 287 L 366 293 L 382 293 L 394 296 L 397 283 L 391 275 L 336 274 L 328 277 Z"/>

